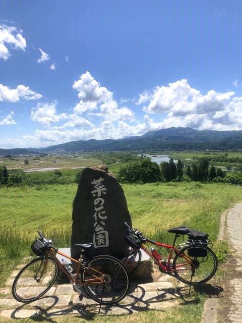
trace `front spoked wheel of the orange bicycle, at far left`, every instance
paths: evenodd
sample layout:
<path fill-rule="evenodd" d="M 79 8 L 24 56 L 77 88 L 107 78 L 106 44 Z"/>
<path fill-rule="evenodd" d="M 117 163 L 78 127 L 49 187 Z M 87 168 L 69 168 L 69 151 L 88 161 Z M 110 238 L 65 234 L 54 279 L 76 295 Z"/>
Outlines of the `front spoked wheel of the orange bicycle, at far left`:
<path fill-rule="evenodd" d="M 54 284 L 58 266 L 51 258 L 37 258 L 28 263 L 16 276 L 12 293 L 22 303 L 34 301 Z"/>

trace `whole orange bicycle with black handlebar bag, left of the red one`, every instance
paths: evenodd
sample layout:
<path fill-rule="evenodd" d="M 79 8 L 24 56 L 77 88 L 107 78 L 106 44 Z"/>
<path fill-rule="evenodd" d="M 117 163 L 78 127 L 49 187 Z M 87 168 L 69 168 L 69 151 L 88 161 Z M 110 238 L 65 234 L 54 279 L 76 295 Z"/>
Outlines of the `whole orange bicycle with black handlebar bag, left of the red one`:
<path fill-rule="evenodd" d="M 12 293 L 14 298 L 23 303 L 35 301 L 43 296 L 56 281 L 58 271 L 63 271 L 73 284 L 73 289 L 82 295 L 81 286 L 86 293 L 100 304 L 114 304 L 122 300 L 129 289 L 129 274 L 118 259 L 99 255 L 85 261 L 85 252 L 92 243 L 75 245 L 80 249 L 80 258 L 76 260 L 58 251 L 51 240 L 41 232 L 32 243 L 33 252 L 39 256 L 22 268 L 16 276 Z M 56 253 L 77 264 L 73 274 L 71 264 L 62 263 Z M 81 296 L 80 296 L 81 299 Z"/>

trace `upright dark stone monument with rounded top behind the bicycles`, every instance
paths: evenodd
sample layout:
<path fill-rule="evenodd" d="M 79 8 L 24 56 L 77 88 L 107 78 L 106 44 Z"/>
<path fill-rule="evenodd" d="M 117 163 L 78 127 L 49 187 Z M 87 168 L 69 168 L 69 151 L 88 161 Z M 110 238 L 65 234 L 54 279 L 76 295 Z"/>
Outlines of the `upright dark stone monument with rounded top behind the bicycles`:
<path fill-rule="evenodd" d="M 123 188 L 117 180 L 104 171 L 85 168 L 79 180 L 73 201 L 71 255 L 78 258 L 80 252 L 74 244 L 93 243 L 88 256 L 109 254 L 123 257 L 126 221 L 131 227 Z"/>

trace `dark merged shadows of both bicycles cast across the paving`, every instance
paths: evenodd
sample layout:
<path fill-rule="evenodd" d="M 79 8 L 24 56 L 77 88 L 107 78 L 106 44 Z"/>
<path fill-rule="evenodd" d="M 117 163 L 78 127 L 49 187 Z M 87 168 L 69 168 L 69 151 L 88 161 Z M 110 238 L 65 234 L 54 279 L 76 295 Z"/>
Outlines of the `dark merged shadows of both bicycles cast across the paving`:
<path fill-rule="evenodd" d="M 147 311 L 149 309 L 159 309 L 165 311 L 166 308 L 181 305 L 197 304 L 200 302 L 196 295 L 188 295 L 187 286 L 167 289 L 156 289 L 146 291 L 137 285 L 135 292 L 129 292 L 123 302 L 116 305 L 99 305 L 69 302 L 68 305 L 58 304 L 62 296 L 45 296 L 33 303 L 23 304 L 15 308 L 11 313 L 11 318 L 21 319 L 28 317 L 33 321 L 46 321 L 55 323 L 55 318 L 63 315 L 77 315 L 86 320 L 93 320 L 97 314 L 101 315 L 130 315 L 134 312 Z M 87 299 L 85 299 L 87 301 Z M 38 304 L 39 303 L 39 304 Z M 41 304 L 41 305 L 40 305 Z"/>

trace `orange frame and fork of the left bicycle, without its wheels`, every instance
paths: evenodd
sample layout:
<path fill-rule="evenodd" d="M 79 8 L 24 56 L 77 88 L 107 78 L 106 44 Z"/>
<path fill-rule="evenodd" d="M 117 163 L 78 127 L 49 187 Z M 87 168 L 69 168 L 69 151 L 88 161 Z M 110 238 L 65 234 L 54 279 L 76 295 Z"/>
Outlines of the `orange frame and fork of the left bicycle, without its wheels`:
<path fill-rule="evenodd" d="M 75 279 L 73 279 L 73 276 L 66 270 L 66 268 L 64 267 L 62 262 L 59 261 L 59 259 L 55 256 L 55 252 L 77 263 L 77 273 L 76 273 Z M 42 275 L 43 275 L 43 273 L 45 271 L 45 268 L 46 268 L 46 265 L 47 265 L 47 262 L 48 262 L 48 255 L 51 255 L 51 258 L 53 258 L 55 260 L 58 267 L 66 274 L 66 276 L 70 279 L 70 281 L 73 284 L 76 284 L 76 285 L 91 285 L 91 284 L 102 284 L 102 283 L 104 283 L 104 281 L 101 278 L 97 277 L 94 274 L 92 274 L 92 276 L 94 278 L 90 278 L 90 279 L 86 280 L 85 282 L 80 282 L 78 280 L 78 277 L 79 277 L 80 270 L 82 270 L 82 269 L 91 270 L 94 273 L 101 274 L 102 276 L 105 276 L 105 275 L 103 273 L 101 273 L 101 272 L 98 272 L 94 268 L 85 266 L 85 264 L 81 263 L 81 261 L 76 260 L 76 259 L 68 256 L 67 254 L 65 254 L 65 253 L 63 253 L 61 251 L 58 251 L 58 250 L 56 251 L 52 247 L 50 248 L 50 250 L 48 252 L 46 252 L 46 256 L 45 256 L 45 259 L 44 259 L 44 266 L 43 266 L 43 270 L 41 272 L 40 278 L 42 277 Z M 39 267 L 39 270 L 38 270 L 37 274 L 39 273 L 39 271 L 41 269 L 41 266 L 42 266 L 42 263 L 40 264 L 40 267 Z M 37 276 L 37 274 L 36 274 L 36 276 Z"/>

